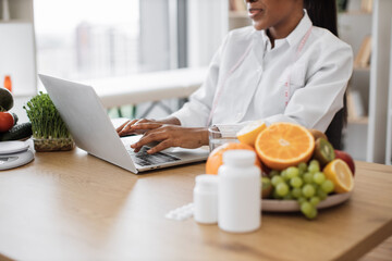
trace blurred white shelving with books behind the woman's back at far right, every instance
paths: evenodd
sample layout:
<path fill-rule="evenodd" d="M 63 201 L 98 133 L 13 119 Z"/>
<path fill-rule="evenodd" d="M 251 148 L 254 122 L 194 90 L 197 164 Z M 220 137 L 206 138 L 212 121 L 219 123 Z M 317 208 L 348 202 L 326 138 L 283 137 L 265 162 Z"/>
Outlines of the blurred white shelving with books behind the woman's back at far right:
<path fill-rule="evenodd" d="M 345 129 L 344 149 L 356 160 L 387 162 L 391 17 L 392 1 L 389 0 L 348 0 L 347 10 L 339 14 L 340 38 L 352 46 L 357 62 L 347 97 L 355 94 L 353 100 L 362 108 L 356 108 L 354 114 L 358 111 L 364 114 L 359 117 L 348 114 Z"/>

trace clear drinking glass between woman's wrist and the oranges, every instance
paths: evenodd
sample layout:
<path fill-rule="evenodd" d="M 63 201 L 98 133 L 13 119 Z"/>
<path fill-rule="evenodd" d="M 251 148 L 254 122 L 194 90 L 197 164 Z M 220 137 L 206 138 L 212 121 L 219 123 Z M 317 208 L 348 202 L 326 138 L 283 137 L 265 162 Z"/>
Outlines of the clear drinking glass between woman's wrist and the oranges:
<path fill-rule="evenodd" d="M 236 133 L 241 129 L 240 125 L 213 125 L 208 128 L 210 152 L 226 142 L 240 142 Z"/>

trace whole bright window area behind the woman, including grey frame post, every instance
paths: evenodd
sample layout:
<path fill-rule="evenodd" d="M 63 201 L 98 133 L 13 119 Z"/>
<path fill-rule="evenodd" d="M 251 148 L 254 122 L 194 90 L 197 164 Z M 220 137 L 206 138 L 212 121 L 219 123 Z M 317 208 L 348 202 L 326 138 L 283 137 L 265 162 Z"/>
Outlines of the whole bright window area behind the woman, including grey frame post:
<path fill-rule="evenodd" d="M 37 71 L 83 82 L 206 66 L 226 8 L 226 0 L 35 0 Z"/>

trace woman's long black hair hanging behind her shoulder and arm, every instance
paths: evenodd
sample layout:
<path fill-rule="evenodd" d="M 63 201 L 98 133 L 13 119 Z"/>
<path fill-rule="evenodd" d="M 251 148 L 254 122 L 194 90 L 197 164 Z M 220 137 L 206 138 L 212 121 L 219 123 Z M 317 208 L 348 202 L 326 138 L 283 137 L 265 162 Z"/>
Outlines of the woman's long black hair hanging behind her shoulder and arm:
<path fill-rule="evenodd" d="M 304 8 L 315 26 L 329 29 L 338 37 L 336 0 L 304 0 Z M 347 123 L 346 103 L 346 94 L 344 94 L 343 109 L 336 112 L 326 132 L 329 141 L 335 149 L 342 149 L 342 130 Z"/>

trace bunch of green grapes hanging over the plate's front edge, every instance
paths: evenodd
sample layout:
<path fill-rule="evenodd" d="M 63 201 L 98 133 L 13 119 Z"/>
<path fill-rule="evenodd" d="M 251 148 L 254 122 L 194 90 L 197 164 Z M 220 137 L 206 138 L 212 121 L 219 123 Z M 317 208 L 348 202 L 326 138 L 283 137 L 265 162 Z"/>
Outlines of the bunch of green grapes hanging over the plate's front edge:
<path fill-rule="evenodd" d="M 283 171 L 272 170 L 269 174 L 274 199 L 295 199 L 302 213 L 308 219 L 317 216 L 317 204 L 334 189 L 334 185 L 320 170 L 317 160 L 309 164 L 299 163 Z"/>

